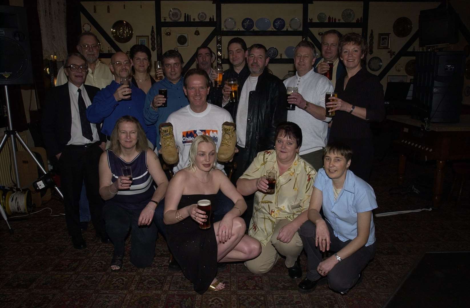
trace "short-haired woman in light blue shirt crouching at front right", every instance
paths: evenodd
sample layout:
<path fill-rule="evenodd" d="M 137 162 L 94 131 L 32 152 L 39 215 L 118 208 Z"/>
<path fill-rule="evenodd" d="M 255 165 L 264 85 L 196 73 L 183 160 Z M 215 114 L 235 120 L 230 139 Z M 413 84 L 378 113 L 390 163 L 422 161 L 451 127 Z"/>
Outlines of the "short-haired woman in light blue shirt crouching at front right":
<path fill-rule="evenodd" d="M 328 277 L 329 287 L 345 294 L 374 257 L 372 210 L 377 202 L 372 187 L 348 169 L 352 157 L 349 146 L 331 143 L 323 155 L 324 166 L 313 184 L 309 220 L 299 230 L 307 254 L 307 277 L 298 287 L 301 292 L 311 292 Z M 329 250 L 336 253 L 323 261 L 321 252 Z"/>

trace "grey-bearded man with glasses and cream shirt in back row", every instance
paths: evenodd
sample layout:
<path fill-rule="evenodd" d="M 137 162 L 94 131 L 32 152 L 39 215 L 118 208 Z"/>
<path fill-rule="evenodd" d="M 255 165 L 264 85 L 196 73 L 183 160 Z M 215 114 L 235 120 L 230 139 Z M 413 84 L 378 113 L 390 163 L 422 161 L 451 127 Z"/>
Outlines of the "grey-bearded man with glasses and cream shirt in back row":
<path fill-rule="evenodd" d="M 77 50 L 86 59 L 88 66 L 88 74 L 86 76 L 85 85 L 93 85 L 97 88 L 104 88 L 114 79 L 108 65 L 98 60 L 100 54 L 100 41 L 92 32 L 83 32 L 77 39 Z M 57 73 L 57 81 L 55 85 L 63 85 L 67 83 L 67 76 L 64 68 L 60 68 Z"/>

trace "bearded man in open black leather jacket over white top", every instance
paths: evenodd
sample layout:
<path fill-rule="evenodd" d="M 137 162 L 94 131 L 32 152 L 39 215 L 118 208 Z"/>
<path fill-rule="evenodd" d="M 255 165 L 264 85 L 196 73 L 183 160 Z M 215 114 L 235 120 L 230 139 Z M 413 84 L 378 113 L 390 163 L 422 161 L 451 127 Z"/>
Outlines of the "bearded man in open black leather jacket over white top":
<path fill-rule="evenodd" d="M 281 79 L 266 69 L 269 62 L 266 47 L 254 44 L 246 51 L 250 76 L 240 92 L 238 103 L 225 107 L 237 125 L 237 147 L 234 161 L 237 169 L 232 176 L 238 177 L 248 168 L 256 154 L 274 147 L 276 126 L 287 120 L 286 88 Z M 228 100 L 227 92 L 224 101 Z"/>

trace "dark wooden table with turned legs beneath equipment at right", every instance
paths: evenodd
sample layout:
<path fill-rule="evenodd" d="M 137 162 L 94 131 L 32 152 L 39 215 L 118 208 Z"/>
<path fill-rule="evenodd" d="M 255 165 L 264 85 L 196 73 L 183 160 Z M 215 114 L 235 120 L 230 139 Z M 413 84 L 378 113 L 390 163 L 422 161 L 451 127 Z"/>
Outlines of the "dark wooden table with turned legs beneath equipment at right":
<path fill-rule="evenodd" d="M 398 184 L 403 184 L 407 155 L 435 160 L 432 206 L 438 208 L 446 161 L 470 159 L 470 115 L 461 115 L 460 123 L 430 123 L 428 127 L 410 115 L 388 115 L 387 119 L 398 122 L 400 128 L 400 138 L 394 141 L 400 153 Z"/>

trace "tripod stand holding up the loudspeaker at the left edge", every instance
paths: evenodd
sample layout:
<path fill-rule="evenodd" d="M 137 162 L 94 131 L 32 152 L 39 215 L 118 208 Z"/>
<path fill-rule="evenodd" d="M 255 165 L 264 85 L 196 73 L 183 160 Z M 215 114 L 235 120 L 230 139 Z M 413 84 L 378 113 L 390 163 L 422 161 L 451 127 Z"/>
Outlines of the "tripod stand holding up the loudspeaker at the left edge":
<path fill-rule="evenodd" d="M 38 165 L 39 169 L 41 169 L 41 171 L 44 174 L 47 174 L 47 172 L 42 167 L 41 163 L 38 161 L 36 156 L 34 156 L 34 154 L 31 152 L 28 145 L 26 145 L 26 143 L 23 141 L 23 139 L 21 139 L 20 135 L 18 135 L 18 132 L 13 129 L 13 123 L 11 121 L 11 111 L 10 111 L 10 99 L 9 99 L 9 96 L 8 96 L 8 87 L 6 85 L 4 85 L 4 89 L 5 89 L 5 99 L 6 99 L 6 102 L 7 102 L 8 130 L 5 130 L 5 135 L 3 135 L 3 139 L 1 139 L 0 152 L 3 150 L 3 146 L 5 146 L 5 142 L 7 141 L 8 137 L 10 137 L 11 138 L 11 147 L 12 147 L 12 152 L 13 152 L 13 164 L 15 166 L 16 185 L 18 187 L 20 187 L 20 174 L 18 172 L 18 162 L 16 161 L 16 142 L 15 142 L 15 139 L 18 140 L 21 143 L 21 145 L 24 147 L 24 149 L 26 151 L 28 151 L 31 158 Z M 59 188 L 57 186 L 54 186 L 54 188 L 63 199 L 63 194 L 59 190 Z M 13 234 L 13 229 L 11 228 L 10 224 L 8 223 L 7 215 L 5 214 L 5 211 L 3 210 L 2 206 L 0 206 L 0 212 L 1 212 L 1 216 L 3 216 L 3 219 L 5 219 L 5 222 L 8 225 L 8 229 L 10 230 L 10 233 Z"/>

